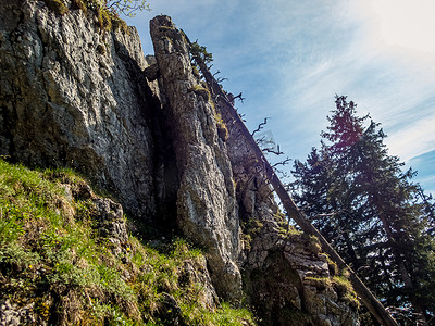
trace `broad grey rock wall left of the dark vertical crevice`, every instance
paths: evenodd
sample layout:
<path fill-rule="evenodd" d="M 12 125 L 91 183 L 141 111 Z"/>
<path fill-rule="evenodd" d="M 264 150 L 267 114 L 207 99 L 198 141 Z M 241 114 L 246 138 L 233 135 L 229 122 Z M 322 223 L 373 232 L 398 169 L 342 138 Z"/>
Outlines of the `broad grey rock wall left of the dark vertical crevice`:
<path fill-rule="evenodd" d="M 152 100 L 136 29 L 101 32 L 91 13 L 60 16 L 36 0 L 1 0 L 0 12 L 0 154 L 74 167 L 130 213 L 152 214 Z"/>

